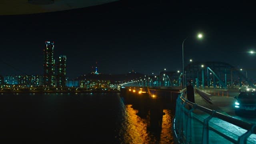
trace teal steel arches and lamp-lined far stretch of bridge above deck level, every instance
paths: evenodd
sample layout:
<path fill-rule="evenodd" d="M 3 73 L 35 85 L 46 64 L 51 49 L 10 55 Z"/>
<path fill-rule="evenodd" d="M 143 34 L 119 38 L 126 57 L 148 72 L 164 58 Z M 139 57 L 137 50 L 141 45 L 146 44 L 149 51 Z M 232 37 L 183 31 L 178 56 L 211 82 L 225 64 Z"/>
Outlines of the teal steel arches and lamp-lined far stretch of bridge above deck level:
<path fill-rule="evenodd" d="M 251 70 L 251 69 L 250 69 Z M 238 88 L 242 85 L 254 86 L 246 69 L 236 68 L 225 62 L 190 62 L 184 68 L 184 79 L 196 88 Z M 162 71 L 155 75 L 145 75 L 121 84 L 122 86 L 182 86 L 182 72 Z"/>

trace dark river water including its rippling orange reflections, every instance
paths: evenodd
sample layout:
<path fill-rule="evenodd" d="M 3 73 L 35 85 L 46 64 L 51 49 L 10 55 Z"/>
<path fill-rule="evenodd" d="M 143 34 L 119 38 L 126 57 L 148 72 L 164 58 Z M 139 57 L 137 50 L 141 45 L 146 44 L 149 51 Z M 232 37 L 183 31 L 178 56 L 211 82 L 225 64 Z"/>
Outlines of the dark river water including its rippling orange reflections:
<path fill-rule="evenodd" d="M 33 144 L 172 144 L 173 112 L 161 132 L 113 94 L 0 94 L 0 142 Z"/>

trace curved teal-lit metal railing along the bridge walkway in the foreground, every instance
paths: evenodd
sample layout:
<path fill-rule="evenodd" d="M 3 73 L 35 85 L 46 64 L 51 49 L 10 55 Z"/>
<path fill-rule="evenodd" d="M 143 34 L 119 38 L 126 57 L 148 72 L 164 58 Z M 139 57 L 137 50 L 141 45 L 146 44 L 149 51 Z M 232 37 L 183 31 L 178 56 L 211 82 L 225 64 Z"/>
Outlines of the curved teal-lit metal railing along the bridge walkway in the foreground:
<path fill-rule="evenodd" d="M 182 144 L 255 144 L 256 125 L 194 104 L 182 90 L 176 100 L 173 132 Z M 189 110 L 188 106 L 192 108 Z"/>

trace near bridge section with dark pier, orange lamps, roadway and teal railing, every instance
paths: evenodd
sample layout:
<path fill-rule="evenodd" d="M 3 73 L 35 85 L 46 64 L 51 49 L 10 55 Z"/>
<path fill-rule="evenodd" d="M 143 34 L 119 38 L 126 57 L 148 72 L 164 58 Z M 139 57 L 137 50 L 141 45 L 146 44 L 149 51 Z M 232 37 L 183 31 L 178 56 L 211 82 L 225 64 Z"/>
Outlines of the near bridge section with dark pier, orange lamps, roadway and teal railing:
<path fill-rule="evenodd" d="M 126 100 L 131 102 L 134 98 L 141 116 L 145 117 L 147 109 L 151 112 L 151 126 L 158 131 L 163 107 L 173 106 L 176 143 L 256 143 L 256 117 L 234 113 L 233 96 L 239 93 L 238 89 L 195 88 L 195 103 L 186 100 L 186 88 L 181 87 L 123 87 L 124 90 L 128 92 Z M 188 106 L 192 109 L 188 110 Z"/>

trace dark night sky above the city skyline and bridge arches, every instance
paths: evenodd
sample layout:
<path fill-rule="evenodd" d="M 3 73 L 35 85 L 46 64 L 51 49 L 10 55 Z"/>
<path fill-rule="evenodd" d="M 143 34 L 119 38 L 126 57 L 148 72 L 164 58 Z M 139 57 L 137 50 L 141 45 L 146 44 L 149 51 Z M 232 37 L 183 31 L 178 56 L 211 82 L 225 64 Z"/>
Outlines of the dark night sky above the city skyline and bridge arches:
<path fill-rule="evenodd" d="M 155 74 L 194 61 L 227 62 L 256 73 L 255 8 L 249 3 L 124 0 L 63 12 L 0 16 L 0 75 L 43 74 L 44 41 L 67 56 L 67 76 L 131 70 Z M 204 39 L 197 40 L 202 32 Z M 7 63 L 7 64 L 6 64 Z"/>

